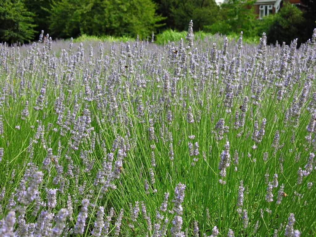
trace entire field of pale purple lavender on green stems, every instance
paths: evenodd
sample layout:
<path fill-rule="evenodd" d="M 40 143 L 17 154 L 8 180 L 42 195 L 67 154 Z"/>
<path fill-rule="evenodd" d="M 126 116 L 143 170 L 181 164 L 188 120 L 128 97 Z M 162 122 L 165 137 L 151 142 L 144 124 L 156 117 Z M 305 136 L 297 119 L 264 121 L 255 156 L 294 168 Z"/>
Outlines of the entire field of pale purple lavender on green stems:
<path fill-rule="evenodd" d="M 0 44 L 0 237 L 315 236 L 315 38 Z"/>

